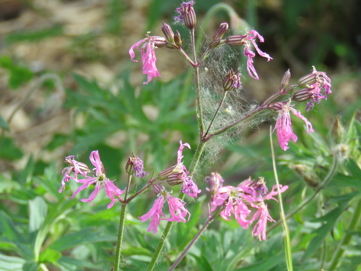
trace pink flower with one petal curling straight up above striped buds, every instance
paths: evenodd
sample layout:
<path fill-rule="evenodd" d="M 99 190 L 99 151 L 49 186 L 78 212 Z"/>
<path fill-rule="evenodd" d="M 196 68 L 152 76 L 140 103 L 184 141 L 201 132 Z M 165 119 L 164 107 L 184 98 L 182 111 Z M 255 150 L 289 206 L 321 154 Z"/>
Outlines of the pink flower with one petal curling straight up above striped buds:
<path fill-rule="evenodd" d="M 177 152 L 177 164 L 159 172 L 158 179 L 166 180 L 170 185 L 182 184 L 181 191 L 184 194 L 188 194 L 191 197 L 197 197 L 197 194 L 200 193 L 201 190 L 198 189 L 197 185 L 192 180 L 192 174 L 187 171 L 186 166 L 183 165 L 182 162 L 182 151 L 184 147 L 187 146 L 189 149 L 191 149 L 191 146 L 188 143 L 183 144 L 182 140 L 179 141 L 179 143 L 181 146 Z"/>

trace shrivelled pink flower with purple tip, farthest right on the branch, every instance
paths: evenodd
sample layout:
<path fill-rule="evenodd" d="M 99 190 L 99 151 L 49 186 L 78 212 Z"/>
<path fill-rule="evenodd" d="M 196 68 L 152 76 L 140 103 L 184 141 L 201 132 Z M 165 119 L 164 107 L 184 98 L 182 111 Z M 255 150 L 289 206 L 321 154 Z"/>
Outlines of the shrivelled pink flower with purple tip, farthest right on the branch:
<path fill-rule="evenodd" d="M 327 76 L 325 72 L 318 72 L 313 66 L 312 74 L 316 75 L 317 82 L 311 85 L 314 94 L 311 96 L 310 101 L 306 105 L 306 110 L 311 111 L 315 103 L 319 104 L 321 99 L 327 99 L 326 94 L 332 93 L 331 91 L 331 79 Z M 321 94 L 321 89 L 324 89 L 323 95 Z"/>

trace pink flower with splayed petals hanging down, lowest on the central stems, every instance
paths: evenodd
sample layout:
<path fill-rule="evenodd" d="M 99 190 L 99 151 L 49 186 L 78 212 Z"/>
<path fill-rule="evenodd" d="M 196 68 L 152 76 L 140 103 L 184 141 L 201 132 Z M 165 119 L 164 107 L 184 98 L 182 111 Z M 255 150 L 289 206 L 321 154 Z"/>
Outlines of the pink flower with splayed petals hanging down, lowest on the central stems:
<path fill-rule="evenodd" d="M 149 210 L 149 212 L 147 212 L 147 214 L 138 217 L 140 220 L 142 220 L 142 222 L 147 221 L 149 218 L 152 218 L 151 222 L 149 223 L 148 232 L 151 232 L 153 230 L 153 235 L 156 235 L 160 220 L 177 222 L 182 221 L 186 223 L 185 217 L 187 216 L 187 214 L 189 220 L 190 213 L 184 207 L 184 201 L 179 198 L 173 197 L 169 192 L 165 190 L 164 186 L 161 186 L 159 184 L 153 185 L 152 191 L 157 194 L 158 198 L 155 200 L 153 207 Z M 170 218 L 166 218 L 162 211 L 165 202 L 167 202 L 169 206 Z"/>

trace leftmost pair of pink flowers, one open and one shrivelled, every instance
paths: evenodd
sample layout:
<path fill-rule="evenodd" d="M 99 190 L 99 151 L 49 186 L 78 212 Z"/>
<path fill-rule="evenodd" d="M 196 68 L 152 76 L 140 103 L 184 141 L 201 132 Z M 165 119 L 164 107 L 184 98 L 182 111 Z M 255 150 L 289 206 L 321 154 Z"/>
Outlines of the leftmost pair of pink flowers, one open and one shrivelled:
<path fill-rule="evenodd" d="M 115 199 L 114 197 L 119 197 L 124 192 L 124 190 L 120 190 L 119 188 L 117 188 L 117 186 L 113 184 L 114 181 L 110 181 L 105 176 L 104 165 L 100 161 L 98 151 L 92 151 L 89 159 L 90 159 L 91 163 L 95 166 L 95 168 L 93 168 L 92 170 L 95 169 L 96 173 L 93 173 L 89 170 L 81 171 L 80 165 L 84 165 L 84 164 L 75 161 L 74 156 L 68 156 L 65 158 L 65 161 L 68 161 L 66 163 L 68 163 L 69 167 L 66 167 L 63 170 L 64 178 L 61 182 L 62 187 L 59 189 L 59 193 L 61 193 L 62 189 L 65 188 L 64 181 L 69 181 L 69 178 L 72 178 L 76 182 L 82 183 L 82 185 L 77 190 L 75 190 L 75 192 L 71 196 L 72 198 L 74 198 L 75 195 L 78 194 L 81 190 L 88 188 L 92 184 L 95 186 L 94 191 L 91 193 L 89 198 L 82 199 L 81 201 L 89 202 L 91 205 L 94 205 L 91 202 L 93 201 L 93 199 L 95 199 L 96 195 L 100 192 L 101 187 L 103 186 L 106 195 L 111 199 L 111 202 L 108 205 L 108 209 L 109 209 L 110 207 L 112 207 L 114 205 L 114 202 L 118 200 L 118 199 Z M 83 167 L 83 169 L 84 169 L 84 167 Z M 87 169 L 87 167 L 86 167 L 86 169 Z M 71 177 L 69 175 L 69 173 L 71 171 L 74 171 L 75 177 Z M 93 177 L 87 176 L 88 172 L 91 172 L 93 174 Z M 77 177 L 78 173 L 80 173 L 85 178 L 79 179 Z M 119 198 L 121 198 L 121 197 L 119 197 Z"/>

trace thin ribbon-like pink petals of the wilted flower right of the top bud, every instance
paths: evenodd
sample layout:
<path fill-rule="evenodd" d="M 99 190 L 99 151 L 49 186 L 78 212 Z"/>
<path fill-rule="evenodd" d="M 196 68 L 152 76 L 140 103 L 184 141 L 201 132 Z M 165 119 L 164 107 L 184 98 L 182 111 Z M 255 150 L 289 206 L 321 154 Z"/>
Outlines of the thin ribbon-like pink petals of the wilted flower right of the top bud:
<path fill-rule="evenodd" d="M 244 55 L 247 56 L 247 70 L 248 70 L 249 76 L 258 80 L 259 78 L 258 78 L 256 69 L 253 66 L 253 59 L 252 59 L 252 57 L 255 57 L 256 54 L 251 49 L 251 43 L 253 44 L 253 46 L 255 46 L 256 51 L 258 52 L 258 54 L 260 56 L 266 57 L 268 59 L 267 62 L 273 58 L 270 57 L 267 53 L 262 52 L 258 48 L 258 45 L 256 44 L 256 37 L 258 37 L 258 39 L 260 39 L 260 42 L 264 42 L 264 38 L 260 34 L 258 34 L 257 31 L 251 30 L 247 33 L 247 42 L 245 42 Z"/>

